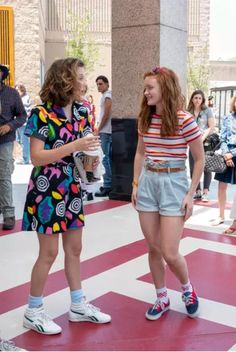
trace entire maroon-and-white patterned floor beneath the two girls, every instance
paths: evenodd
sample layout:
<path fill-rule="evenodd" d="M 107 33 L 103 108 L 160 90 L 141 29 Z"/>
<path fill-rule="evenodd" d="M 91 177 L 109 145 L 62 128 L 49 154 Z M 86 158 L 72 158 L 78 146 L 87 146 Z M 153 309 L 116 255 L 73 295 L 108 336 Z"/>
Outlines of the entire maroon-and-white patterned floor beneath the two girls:
<path fill-rule="evenodd" d="M 30 170 L 24 170 L 28 177 Z M 29 351 L 236 350 L 236 238 L 222 235 L 230 224 L 230 203 L 225 224 L 211 226 L 211 220 L 218 215 L 217 202 L 212 200 L 195 205 L 181 240 L 181 252 L 200 297 L 198 319 L 186 316 L 179 283 L 169 271 L 171 310 L 158 321 L 145 319 L 148 305 L 155 301 L 155 291 L 137 214 L 127 202 L 98 199 L 85 205 L 83 287 L 87 299 L 111 314 L 112 322 L 97 325 L 68 321 L 70 298 L 60 247 L 44 302 L 48 313 L 62 326 L 62 334 L 44 336 L 23 328 L 22 317 L 38 243 L 35 233 L 20 231 L 26 182 L 17 180 L 13 178 L 16 228 L 3 231 L 0 225 L 2 338 L 13 339 Z"/>

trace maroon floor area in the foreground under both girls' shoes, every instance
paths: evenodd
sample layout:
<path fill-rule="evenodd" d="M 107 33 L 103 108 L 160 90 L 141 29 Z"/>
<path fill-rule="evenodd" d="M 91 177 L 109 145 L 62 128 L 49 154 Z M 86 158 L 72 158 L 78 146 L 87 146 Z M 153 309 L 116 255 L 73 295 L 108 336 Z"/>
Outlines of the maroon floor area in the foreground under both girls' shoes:
<path fill-rule="evenodd" d="M 29 351 L 228 351 L 236 341 L 234 328 L 172 310 L 148 321 L 145 302 L 113 292 L 93 303 L 111 314 L 111 323 L 70 323 L 63 314 L 55 319 L 62 334 L 28 331 L 14 340 Z"/>

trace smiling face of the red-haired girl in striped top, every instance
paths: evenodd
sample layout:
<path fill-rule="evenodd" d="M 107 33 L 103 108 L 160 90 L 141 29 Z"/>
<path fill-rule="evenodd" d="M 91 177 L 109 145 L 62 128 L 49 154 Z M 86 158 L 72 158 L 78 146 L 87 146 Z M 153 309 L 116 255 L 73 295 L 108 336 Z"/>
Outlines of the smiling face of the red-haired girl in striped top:
<path fill-rule="evenodd" d="M 147 76 L 144 79 L 144 95 L 147 99 L 147 105 L 155 105 L 158 112 L 162 105 L 162 94 L 160 85 L 154 77 Z"/>

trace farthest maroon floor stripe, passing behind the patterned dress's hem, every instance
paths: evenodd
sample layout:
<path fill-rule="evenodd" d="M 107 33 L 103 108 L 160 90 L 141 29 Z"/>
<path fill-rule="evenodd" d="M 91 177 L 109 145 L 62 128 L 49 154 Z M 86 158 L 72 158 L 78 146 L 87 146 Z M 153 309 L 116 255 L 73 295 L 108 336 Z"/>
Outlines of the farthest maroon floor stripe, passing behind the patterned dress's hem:
<path fill-rule="evenodd" d="M 98 213 L 100 211 L 104 211 L 104 210 L 109 210 L 112 208 L 116 208 L 116 207 L 120 207 L 122 205 L 125 204 L 129 204 L 129 202 L 126 201 L 121 201 L 121 200 L 104 200 L 101 202 L 97 202 L 97 203 L 92 203 L 92 204 L 85 204 L 84 206 L 84 213 L 85 215 L 90 215 L 90 214 L 94 214 L 94 213 Z M 20 232 L 21 231 L 21 223 L 22 220 L 16 220 L 16 225 L 14 227 L 14 229 L 12 230 L 3 230 L 0 229 L 0 237 L 1 236 L 6 236 L 6 235 L 11 235 L 15 232 Z"/>

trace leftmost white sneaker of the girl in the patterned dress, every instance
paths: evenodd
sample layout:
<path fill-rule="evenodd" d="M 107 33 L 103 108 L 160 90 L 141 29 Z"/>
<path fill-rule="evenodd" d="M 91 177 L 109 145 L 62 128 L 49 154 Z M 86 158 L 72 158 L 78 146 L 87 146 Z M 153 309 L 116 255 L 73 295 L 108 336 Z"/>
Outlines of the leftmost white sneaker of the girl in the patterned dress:
<path fill-rule="evenodd" d="M 61 332 L 61 327 L 54 323 L 52 318 L 44 312 L 43 307 L 26 308 L 23 325 L 45 335 L 54 335 Z"/>

